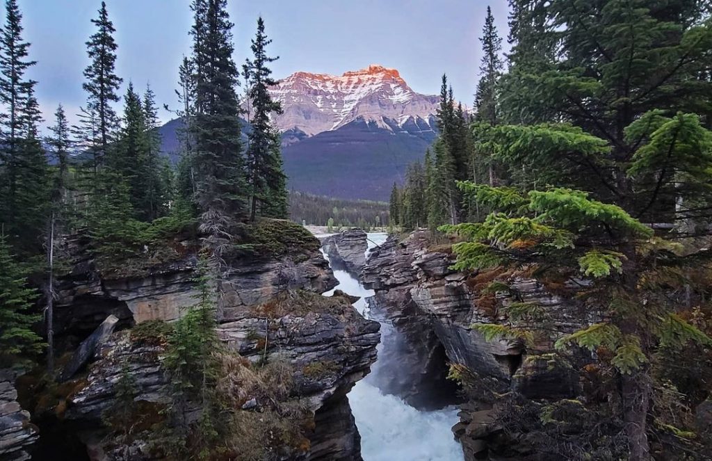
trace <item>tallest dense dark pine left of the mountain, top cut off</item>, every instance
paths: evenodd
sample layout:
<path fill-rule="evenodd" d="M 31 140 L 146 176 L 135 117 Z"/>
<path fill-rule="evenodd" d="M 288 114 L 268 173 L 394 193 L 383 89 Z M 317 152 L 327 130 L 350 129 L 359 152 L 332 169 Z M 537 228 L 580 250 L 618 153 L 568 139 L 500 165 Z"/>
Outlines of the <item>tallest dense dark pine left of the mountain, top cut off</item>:
<path fill-rule="evenodd" d="M 239 72 L 232 58 L 232 23 L 226 0 L 194 0 L 195 113 L 190 125 L 201 229 L 220 253 L 246 216 L 246 180 L 235 92 Z"/>

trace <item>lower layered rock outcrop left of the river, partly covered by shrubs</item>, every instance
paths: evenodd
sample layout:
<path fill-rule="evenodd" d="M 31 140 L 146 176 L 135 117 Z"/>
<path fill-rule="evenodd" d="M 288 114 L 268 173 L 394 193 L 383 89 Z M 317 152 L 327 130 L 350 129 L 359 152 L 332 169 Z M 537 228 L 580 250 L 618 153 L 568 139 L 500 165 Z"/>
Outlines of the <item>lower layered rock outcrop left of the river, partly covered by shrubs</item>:
<path fill-rule="evenodd" d="M 294 295 L 299 296 L 299 295 Z M 318 295 L 314 295 L 318 296 Z M 307 301 L 305 301 L 305 299 Z M 294 299 L 304 306 L 309 296 Z M 243 358 L 288 363 L 293 392 L 315 413 L 315 430 L 310 435 L 309 452 L 293 460 L 360 460 L 360 437 L 345 398 L 348 390 L 366 375 L 376 360 L 379 323 L 369 321 L 352 309 L 345 297 L 322 298 L 315 311 L 289 312 L 271 318 L 258 318 L 256 312 L 240 320 L 221 323 L 219 338 Z M 132 336 L 132 331 L 115 333 L 105 343 L 101 358 L 93 363 L 83 387 L 68 402 L 65 418 L 82 426 L 99 424 L 117 404 L 117 383 L 130 373 L 137 395 L 134 404 L 158 414 L 170 403 L 171 388 L 162 366 L 164 343 Z M 242 409 L 258 411 L 269 402 L 261 395 L 245 395 Z M 132 460 L 152 460 L 150 443 L 135 437 L 130 447 L 120 449 L 106 442 L 105 430 L 87 430 L 82 437 L 91 452 L 103 458 L 120 460 L 122 450 L 132 452 Z"/>

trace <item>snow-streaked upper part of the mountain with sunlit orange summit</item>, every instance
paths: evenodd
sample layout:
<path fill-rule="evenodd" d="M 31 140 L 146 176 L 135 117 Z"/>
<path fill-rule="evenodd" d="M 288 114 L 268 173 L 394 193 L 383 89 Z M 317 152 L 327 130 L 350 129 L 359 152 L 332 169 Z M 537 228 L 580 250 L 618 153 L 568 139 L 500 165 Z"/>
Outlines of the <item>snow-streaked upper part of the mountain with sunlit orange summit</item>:
<path fill-rule="evenodd" d="M 438 96 L 416 93 L 397 70 L 372 65 L 342 76 L 297 72 L 270 90 L 282 103 L 276 125 L 307 136 L 357 119 L 389 131 L 432 130 Z"/>

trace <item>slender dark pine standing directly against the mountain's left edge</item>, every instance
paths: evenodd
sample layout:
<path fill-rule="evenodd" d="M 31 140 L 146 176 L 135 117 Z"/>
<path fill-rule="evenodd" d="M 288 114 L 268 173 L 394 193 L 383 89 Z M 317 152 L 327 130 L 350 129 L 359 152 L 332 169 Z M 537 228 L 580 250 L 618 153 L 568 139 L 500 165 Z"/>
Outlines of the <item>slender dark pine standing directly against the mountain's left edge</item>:
<path fill-rule="evenodd" d="M 252 130 L 248 136 L 246 152 L 247 180 L 250 189 L 250 220 L 258 213 L 268 217 L 286 218 L 286 176 L 282 170 L 281 138 L 271 125 L 270 116 L 281 114 L 282 107 L 272 99 L 268 87 L 275 84 L 272 71 L 267 67 L 278 58 L 266 54 L 266 46 L 272 43 L 265 33 L 264 21 L 257 19 L 257 33 L 252 40 L 253 60 L 246 64 L 249 100 L 251 101 Z"/>

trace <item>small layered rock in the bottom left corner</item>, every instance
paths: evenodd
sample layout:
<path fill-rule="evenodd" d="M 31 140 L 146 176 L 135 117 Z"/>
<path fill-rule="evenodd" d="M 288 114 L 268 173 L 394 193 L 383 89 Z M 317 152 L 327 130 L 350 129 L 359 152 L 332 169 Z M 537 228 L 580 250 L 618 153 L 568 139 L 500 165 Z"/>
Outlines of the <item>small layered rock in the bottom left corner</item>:
<path fill-rule="evenodd" d="M 0 369 L 0 460 L 31 459 L 28 450 L 37 441 L 38 430 L 30 423 L 30 413 L 21 408 L 15 388 L 16 373 Z"/>

